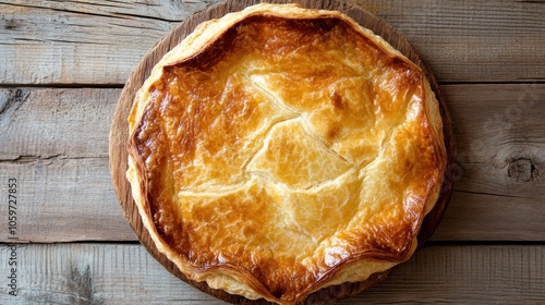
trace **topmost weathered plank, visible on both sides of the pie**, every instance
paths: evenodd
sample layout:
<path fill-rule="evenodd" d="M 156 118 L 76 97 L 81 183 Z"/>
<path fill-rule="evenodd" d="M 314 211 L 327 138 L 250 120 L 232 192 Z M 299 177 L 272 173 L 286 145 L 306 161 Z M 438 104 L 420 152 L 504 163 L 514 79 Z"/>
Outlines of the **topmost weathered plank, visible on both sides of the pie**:
<path fill-rule="evenodd" d="M 122 85 L 141 58 L 209 1 L 0 4 L 0 84 Z M 177 4 L 175 4 L 177 3 Z M 439 82 L 545 80 L 545 5 L 535 1 L 359 0 L 398 29 Z"/>

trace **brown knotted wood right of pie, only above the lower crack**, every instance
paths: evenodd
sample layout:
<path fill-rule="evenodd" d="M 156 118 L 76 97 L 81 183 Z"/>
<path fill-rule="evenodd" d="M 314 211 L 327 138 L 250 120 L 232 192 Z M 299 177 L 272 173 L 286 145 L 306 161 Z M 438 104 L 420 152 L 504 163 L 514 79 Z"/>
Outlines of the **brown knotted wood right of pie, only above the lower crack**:
<path fill-rule="evenodd" d="M 470 88 L 449 86 L 446 93 L 459 135 L 459 174 L 469 178 L 457 190 L 514 198 L 545 195 L 545 86 Z"/>

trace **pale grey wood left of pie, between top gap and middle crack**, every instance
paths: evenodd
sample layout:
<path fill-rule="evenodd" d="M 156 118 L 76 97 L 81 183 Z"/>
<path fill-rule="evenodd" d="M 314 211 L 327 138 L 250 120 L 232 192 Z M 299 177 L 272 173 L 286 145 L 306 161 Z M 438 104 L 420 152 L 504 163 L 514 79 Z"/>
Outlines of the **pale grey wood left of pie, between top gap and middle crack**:
<path fill-rule="evenodd" d="M 108 158 L 119 91 L 0 88 L 0 159 Z"/>

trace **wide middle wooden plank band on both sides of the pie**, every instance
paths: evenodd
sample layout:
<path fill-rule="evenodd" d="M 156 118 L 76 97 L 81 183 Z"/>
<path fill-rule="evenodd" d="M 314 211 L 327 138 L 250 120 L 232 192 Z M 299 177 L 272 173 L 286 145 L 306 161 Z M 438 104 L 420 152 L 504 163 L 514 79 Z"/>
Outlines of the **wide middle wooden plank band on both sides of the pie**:
<path fill-rule="evenodd" d="M 545 241 L 545 85 L 443 90 L 455 121 L 459 175 L 433 239 Z M 136 240 L 108 170 L 108 133 L 120 91 L 0 89 L 0 183 L 20 181 L 21 239 Z M 0 217 L 0 228 L 5 223 Z M 0 241 L 7 237 L 0 230 Z"/>

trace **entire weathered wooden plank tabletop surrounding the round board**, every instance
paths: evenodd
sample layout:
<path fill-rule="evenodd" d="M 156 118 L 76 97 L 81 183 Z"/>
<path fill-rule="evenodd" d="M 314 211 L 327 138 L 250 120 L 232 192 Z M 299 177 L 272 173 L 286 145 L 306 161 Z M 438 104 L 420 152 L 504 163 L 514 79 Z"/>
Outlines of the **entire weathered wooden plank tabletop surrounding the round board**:
<path fill-rule="evenodd" d="M 0 304 L 222 304 L 137 242 L 108 167 L 130 73 L 216 2 L 0 1 Z M 545 2 L 355 3 L 433 70 L 459 152 L 432 240 L 339 304 L 544 304 Z"/>

